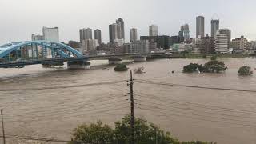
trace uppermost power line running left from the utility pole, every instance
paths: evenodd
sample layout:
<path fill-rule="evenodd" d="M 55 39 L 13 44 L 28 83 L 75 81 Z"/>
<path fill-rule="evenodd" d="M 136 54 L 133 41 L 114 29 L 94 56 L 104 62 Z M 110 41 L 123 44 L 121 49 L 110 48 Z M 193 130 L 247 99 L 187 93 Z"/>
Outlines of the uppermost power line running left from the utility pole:
<path fill-rule="evenodd" d="M 74 85 L 74 86 L 51 86 L 51 87 L 41 87 L 41 88 L 27 88 L 27 89 L 7 89 L 7 90 L 0 90 L 1 92 L 6 91 L 27 91 L 27 90 L 55 90 L 55 89 L 65 89 L 65 88 L 76 88 L 76 87 L 86 87 L 86 86 L 99 86 L 99 85 L 110 85 L 110 84 L 116 84 L 116 83 L 122 83 L 126 82 L 124 80 L 122 81 L 112 81 L 112 82 L 97 82 L 97 83 L 88 83 L 88 84 L 82 84 L 82 85 Z"/>

